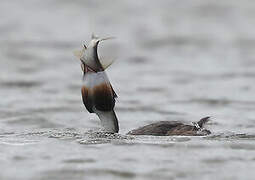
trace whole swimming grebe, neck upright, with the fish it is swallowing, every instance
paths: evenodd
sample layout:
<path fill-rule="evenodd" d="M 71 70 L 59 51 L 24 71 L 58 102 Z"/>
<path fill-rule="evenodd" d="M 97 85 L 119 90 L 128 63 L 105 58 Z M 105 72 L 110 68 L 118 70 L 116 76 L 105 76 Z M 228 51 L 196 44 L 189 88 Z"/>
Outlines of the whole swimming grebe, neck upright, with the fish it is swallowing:
<path fill-rule="evenodd" d="M 106 132 L 118 133 L 119 124 L 114 112 L 116 93 L 105 73 L 105 69 L 112 62 L 104 64 L 97 53 L 98 44 L 111 38 L 99 38 L 92 34 L 92 39 L 86 47 L 74 54 L 81 61 L 83 71 L 83 85 L 81 88 L 82 100 L 89 113 L 95 113 L 99 117 Z M 186 125 L 179 121 L 160 121 L 138 129 L 134 129 L 128 135 L 154 135 L 154 136 L 204 136 L 211 132 L 204 129 L 209 117 L 202 118 L 193 125 Z"/>

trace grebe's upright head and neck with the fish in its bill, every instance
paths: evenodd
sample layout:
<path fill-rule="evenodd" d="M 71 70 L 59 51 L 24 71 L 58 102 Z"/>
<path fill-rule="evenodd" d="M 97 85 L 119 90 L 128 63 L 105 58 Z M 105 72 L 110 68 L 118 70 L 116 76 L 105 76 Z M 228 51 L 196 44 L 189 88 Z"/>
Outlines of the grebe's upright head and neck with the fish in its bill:
<path fill-rule="evenodd" d="M 81 94 L 85 108 L 89 113 L 95 113 L 99 117 L 106 132 L 118 133 L 119 123 L 114 111 L 117 94 L 105 72 L 112 62 L 102 63 L 97 52 L 99 42 L 112 38 L 99 38 L 92 34 L 88 47 L 83 45 L 82 50 L 75 51 L 74 55 L 81 61 L 83 71 Z"/>

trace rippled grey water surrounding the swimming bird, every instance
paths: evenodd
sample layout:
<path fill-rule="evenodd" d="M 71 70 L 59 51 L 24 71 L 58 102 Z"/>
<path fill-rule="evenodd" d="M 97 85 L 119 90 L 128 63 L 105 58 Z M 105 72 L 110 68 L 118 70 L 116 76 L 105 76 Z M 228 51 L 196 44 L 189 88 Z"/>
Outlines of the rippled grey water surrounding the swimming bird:
<path fill-rule="evenodd" d="M 253 179 L 255 3 L 0 2 L 0 179 Z M 72 51 L 92 32 L 120 135 L 81 102 Z M 125 136 L 212 116 L 209 137 Z"/>

